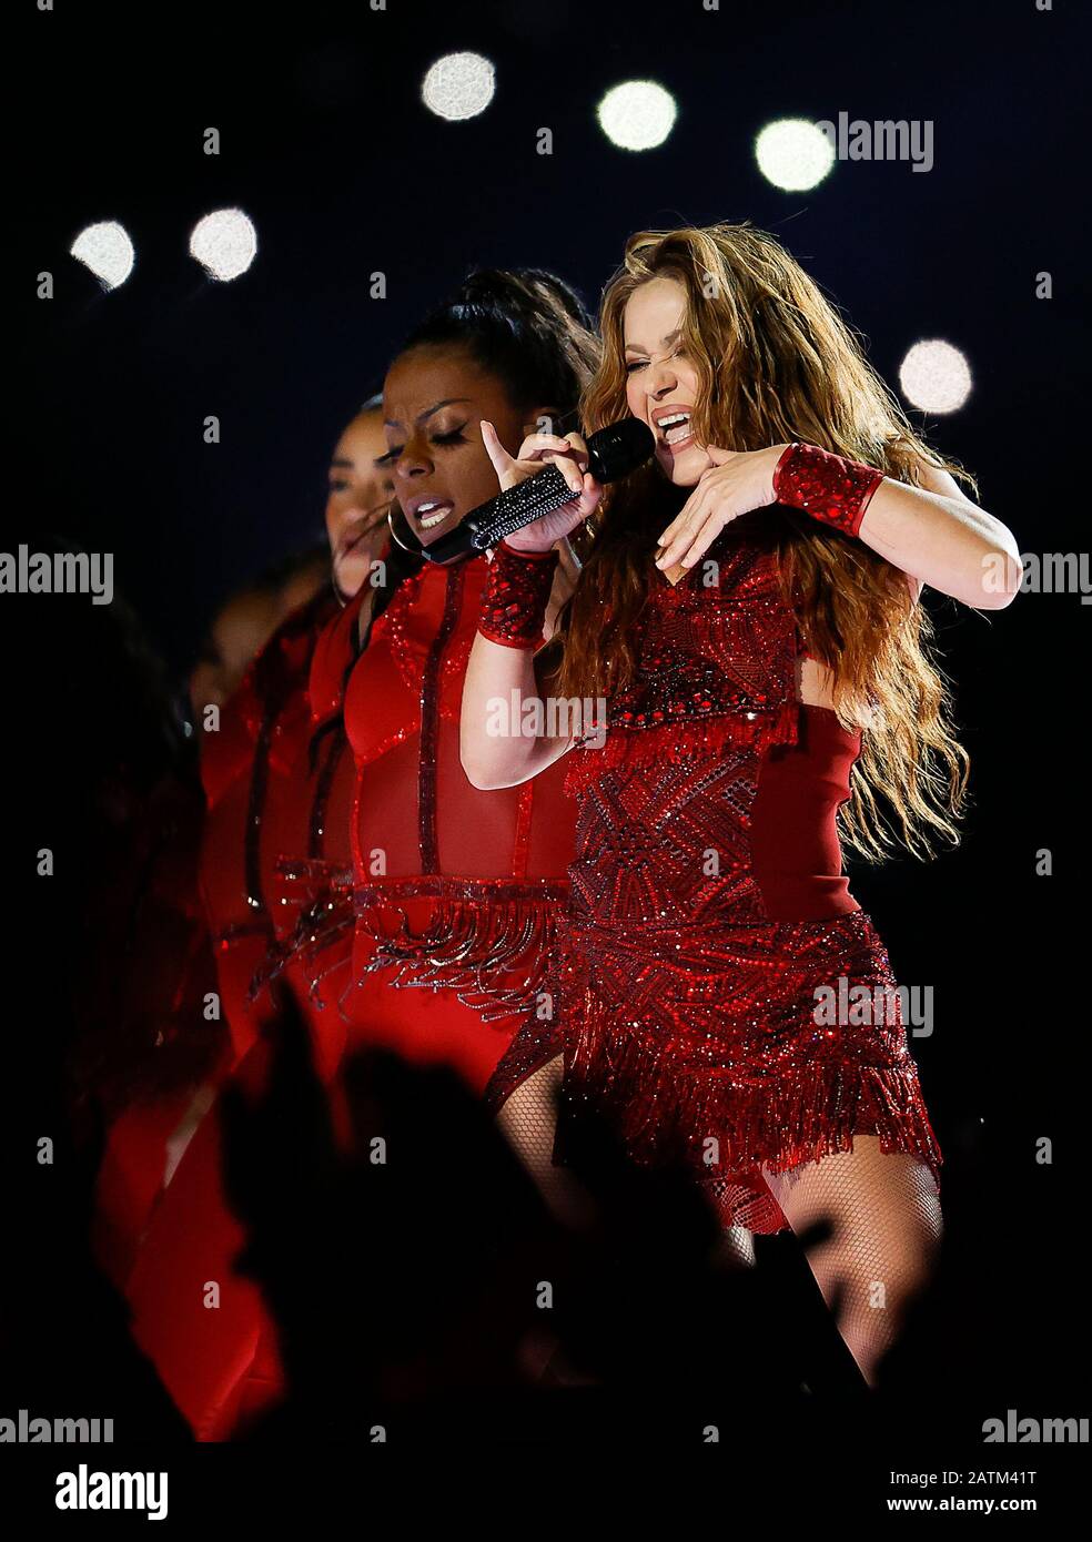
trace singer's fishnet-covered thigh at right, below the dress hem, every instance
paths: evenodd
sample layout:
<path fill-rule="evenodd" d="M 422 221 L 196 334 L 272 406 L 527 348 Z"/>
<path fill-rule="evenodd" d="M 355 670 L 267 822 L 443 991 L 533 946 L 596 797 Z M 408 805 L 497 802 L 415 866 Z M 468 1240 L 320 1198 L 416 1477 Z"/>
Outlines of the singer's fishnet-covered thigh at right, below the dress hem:
<path fill-rule="evenodd" d="M 939 1251 L 932 1172 L 910 1152 L 882 1152 L 876 1135 L 854 1135 L 851 1152 L 784 1173 L 763 1167 L 762 1175 L 797 1237 L 830 1224 L 830 1237 L 805 1243 L 807 1258 L 861 1374 L 875 1386 L 876 1368 Z"/>

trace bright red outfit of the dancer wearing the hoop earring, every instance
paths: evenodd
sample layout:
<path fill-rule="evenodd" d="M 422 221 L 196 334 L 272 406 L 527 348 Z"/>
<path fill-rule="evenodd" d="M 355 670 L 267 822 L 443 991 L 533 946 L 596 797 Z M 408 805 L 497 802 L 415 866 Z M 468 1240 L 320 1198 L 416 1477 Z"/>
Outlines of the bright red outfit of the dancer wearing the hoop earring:
<path fill-rule="evenodd" d="M 338 1021 L 324 1021 L 329 1064 L 345 1047 L 381 1045 L 447 1064 L 477 1093 L 541 988 L 575 822 L 561 766 L 497 791 L 463 771 L 463 678 L 486 577 L 475 557 L 404 580 L 349 674 L 353 967 Z M 341 691 L 355 609 L 319 640 L 315 711 Z M 342 922 L 336 905 L 329 924 Z"/>

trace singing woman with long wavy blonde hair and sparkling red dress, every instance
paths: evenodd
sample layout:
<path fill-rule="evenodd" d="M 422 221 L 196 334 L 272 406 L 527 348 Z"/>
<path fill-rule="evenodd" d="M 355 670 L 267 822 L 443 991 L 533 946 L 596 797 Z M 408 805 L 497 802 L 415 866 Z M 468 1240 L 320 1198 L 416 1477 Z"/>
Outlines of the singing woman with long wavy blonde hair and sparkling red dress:
<path fill-rule="evenodd" d="M 942 1153 L 842 842 L 958 842 L 969 760 L 921 591 L 1001 609 L 1018 547 L 750 224 L 631 237 L 602 333 L 581 421 L 642 419 L 649 466 L 605 492 L 577 435 L 512 458 L 483 426 L 503 487 L 549 460 L 574 498 L 495 554 L 463 766 L 512 786 L 572 751 L 577 800 L 551 988 L 487 1101 L 561 1210 L 606 1127 L 691 1169 L 745 1244 L 827 1221 L 808 1261 L 876 1385 L 935 1264 Z M 552 544 L 581 521 L 543 648 Z M 518 699 L 548 731 L 498 729 Z"/>

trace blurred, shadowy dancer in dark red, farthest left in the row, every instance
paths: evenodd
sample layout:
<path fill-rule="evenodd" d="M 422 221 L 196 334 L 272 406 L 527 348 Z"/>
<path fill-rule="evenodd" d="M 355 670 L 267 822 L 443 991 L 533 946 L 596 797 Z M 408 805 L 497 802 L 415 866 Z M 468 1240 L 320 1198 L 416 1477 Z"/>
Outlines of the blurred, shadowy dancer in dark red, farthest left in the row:
<path fill-rule="evenodd" d="M 310 598 L 313 608 L 307 608 Z M 133 905 L 134 916 L 153 921 L 148 927 L 145 919 L 151 936 L 142 936 L 134 947 L 147 981 L 157 982 L 143 1010 L 159 1001 L 163 1021 L 156 1055 L 145 1055 L 140 1070 L 143 1079 L 159 1084 L 159 1092 L 133 1089 L 111 1124 L 96 1180 L 96 1255 L 122 1289 L 148 1220 L 217 1086 L 258 1033 L 261 1008 L 251 1002 L 248 987 L 271 936 L 268 911 L 254 899 L 262 890 L 254 862 L 265 785 L 270 766 L 284 769 L 284 745 L 292 736 L 282 706 L 292 695 L 293 669 L 299 671 L 301 643 L 305 655 L 308 635 L 313 638 L 316 625 L 333 609 L 329 557 L 325 574 L 316 572 L 315 550 L 282 563 L 221 606 L 190 677 L 204 799 L 191 813 L 162 799 L 150 808 L 148 825 L 159 850 L 148 865 L 151 887 Z M 281 634 L 281 646 L 256 666 L 281 621 L 296 611 L 301 614 Z M 251 810 L 254 794 L 261 796 Z M 236 840 L 244 828 L 245 842 Z M 167 862 L 171 842 L 177 850 Z M 120 887 L 113 887 L 120 896 Z M 156 967 L 159 948 L 167 958 Z M 126 978 L 134 979 L 133 971 Z M 210 993 L 219 996 L 216 1018 L 207 1016 Z M 114 1010 L 116 1022 L 125 1016 Z M 163 1047 L 177 1062 L 170 1070 L 148 1062 Z"/>

